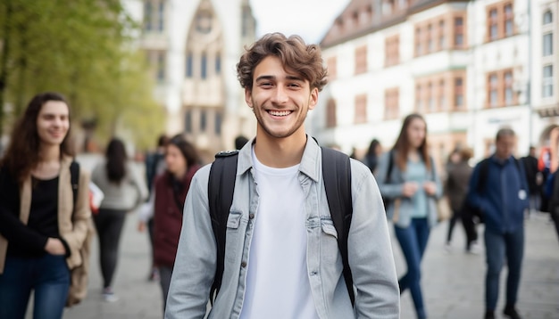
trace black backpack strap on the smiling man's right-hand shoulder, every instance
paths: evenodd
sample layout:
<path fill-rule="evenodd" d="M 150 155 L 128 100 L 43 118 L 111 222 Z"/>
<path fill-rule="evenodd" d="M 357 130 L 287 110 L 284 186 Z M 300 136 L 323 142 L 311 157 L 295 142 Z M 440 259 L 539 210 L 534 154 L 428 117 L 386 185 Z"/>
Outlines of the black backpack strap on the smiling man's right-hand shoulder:
<path fill-rule="evenodd" d="M 347 237 L 353 216 L 351 196 L 351 162 L 349 157 L 329 148 L 322 150 L 322 178 L 330 216 L 338 232 L 338 249 L 342 255 L 344 265 L 344 279 L 351 304 L 355 304 L 354 281 L 347 258 Z"/>

